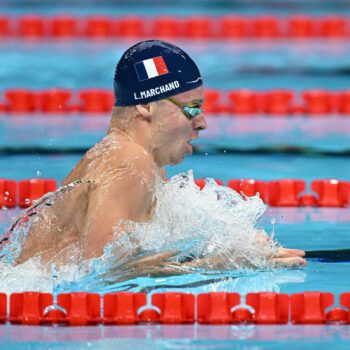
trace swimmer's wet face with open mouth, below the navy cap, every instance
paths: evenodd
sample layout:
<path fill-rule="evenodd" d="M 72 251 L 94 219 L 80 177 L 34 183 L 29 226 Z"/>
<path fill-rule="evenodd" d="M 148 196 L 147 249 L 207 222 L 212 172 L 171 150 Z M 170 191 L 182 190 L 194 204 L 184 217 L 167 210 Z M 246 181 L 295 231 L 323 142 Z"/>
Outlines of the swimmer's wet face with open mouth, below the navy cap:
<path fill-rule="evenodd" d="M 190 107 L 201 107 L 204 103 L 202 86 L 173 96 L 176 101 Z M 180 163 L 186 154 L 192 154 L 190 144 L 199 137 L 199 132 L 207 128 L 203 114 L 189 119 L 181 107 L 161 100 L 154 103 L 153 119 L 153 152 L 160 166 Z"/>

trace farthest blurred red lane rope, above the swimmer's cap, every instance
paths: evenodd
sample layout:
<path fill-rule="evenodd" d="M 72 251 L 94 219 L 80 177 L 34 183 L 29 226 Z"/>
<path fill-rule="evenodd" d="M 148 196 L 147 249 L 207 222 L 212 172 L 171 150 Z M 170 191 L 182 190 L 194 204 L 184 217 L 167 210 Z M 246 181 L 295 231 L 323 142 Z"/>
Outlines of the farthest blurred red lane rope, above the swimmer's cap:
<path fill-rule="evenodd" d="M 42 17 L 0 16 L 0 37 L 22 39 L 106 39 L 115 37 L 188 38 L 188 39 L 345 39 L 350 38 L 348 17 L 264 15 L 244 17 L 138 16 Z"/>

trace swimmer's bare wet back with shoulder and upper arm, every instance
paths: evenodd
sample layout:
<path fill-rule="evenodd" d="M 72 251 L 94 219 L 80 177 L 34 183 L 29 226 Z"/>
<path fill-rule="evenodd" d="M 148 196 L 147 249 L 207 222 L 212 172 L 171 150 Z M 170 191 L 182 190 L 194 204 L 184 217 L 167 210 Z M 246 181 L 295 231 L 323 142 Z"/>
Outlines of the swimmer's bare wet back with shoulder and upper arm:
<path fill-rule="evenodd" d="M 155 172 L 153 160 L 141 146 L 105 137 L 63 181 L 70 190 L 37 215 L 21 262 L 40 252 L 48 260 L 71 245 L 84 258 L 101 255 L 118 220 L 147 219 Z M 80 184 L 69 185 L 75 183 Z"/>

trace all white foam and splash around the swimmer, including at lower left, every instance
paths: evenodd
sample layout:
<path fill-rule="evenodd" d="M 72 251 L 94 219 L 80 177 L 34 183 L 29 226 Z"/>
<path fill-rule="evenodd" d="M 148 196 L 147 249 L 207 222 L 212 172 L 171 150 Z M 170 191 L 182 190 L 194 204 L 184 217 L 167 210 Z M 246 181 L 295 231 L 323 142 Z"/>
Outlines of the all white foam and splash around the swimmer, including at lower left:
<path fill-rule="evenodd" d="M 51 201 L 55 195 L 51 195 Z M 58 288 L 118 290 L 120 283 L 137 276 L 204 276 L 219 271 L 242 273 L 247 268 L 270 269 L 269 258 L 276 250 L 276 242 L 273 238 L 266 240 L 265 233 L 257 227 L 265 209 L 259 196 L 242 197 L 230 188 L 218 186 L 213 179 L 208 179 L 200 191 L 191 171 L 167 182 L 159 180 L 152 221 L 117 223 L 114 242 L 105 247 L 103 256 L 57 266 Z M 20 235 L 25 237 L 23 227 Z M 21 241 L 18 239 L 17 246 L 11 249 L 20 249 Z M 52 288 L 50 266 L 42 264 L 40 257 L 20 265 L 1 262 L 0 290 Z"/>

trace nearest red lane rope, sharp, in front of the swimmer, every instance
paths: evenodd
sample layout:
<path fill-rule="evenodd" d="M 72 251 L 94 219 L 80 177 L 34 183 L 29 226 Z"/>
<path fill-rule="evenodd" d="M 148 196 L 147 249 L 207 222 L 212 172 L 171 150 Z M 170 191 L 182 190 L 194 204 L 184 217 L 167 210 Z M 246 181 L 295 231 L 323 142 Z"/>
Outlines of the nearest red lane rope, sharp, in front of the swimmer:
<path fill-rule="evenodd" d="M 7 303 L 9 313 L 7 314 Z M 350 293 L 335 306 L 333 293 L 212 292 L 156 293 L 147 303 L 145 293 L 118 292 L 59 294 L 0 293 L 2 323 L 67 326 L 155 324 L 350 324 Z M 102 307 L 103 306 L 103 307 Z"/>

